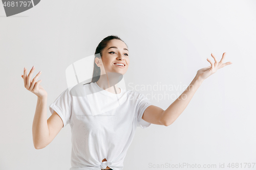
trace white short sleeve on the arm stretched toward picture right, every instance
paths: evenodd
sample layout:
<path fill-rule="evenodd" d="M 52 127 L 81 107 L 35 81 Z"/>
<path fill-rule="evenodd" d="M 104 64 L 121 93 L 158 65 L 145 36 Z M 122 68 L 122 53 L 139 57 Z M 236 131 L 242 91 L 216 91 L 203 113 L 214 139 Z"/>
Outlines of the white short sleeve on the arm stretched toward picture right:
<path fill-rule="evenodd" d="M 148 101 L 144 94 L 139 93 L 137 99 L 137 127 L 141 127 L 142 129 L 151 125 L 151 123 L 146 122 L 142 119 L 142 115 L 148 106 L 152 105 L 150 101 Z"/>

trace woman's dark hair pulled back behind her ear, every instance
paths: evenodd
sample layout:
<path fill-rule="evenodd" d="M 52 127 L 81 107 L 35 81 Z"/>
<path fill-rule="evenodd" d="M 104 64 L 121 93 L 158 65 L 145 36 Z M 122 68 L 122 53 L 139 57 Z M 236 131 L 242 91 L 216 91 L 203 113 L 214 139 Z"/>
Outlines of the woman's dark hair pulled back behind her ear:
<path fill-rule="evenodd" d="M 100 67 L 97 66 L 97 64 L 95 63 L 95 59 L 96 57 L 99 58 L 99 55 L 100 57 L 102 58 L 102 51 L 103 49 L 106 47 L 106 45 L 108 45 L 109 41 L 112 40 L 112 39 L 119 39 L 121 40 L 118 36 L 116 35 L 110 35 L 108 37 L 105 37 L 103 40 L 100 41 L 100 43 L 98 44 L 96 50 L 95 50 L 95 57 L 94 57 L 94 64 L 93 64 L 93 77 L 92 77 L 92 81 L 89 82 L 89 83 L 86 83 L 86 84 L 90 84 L 90 83 L 94 83 L 94 82 L 97 82 L 99 80 L 99 77 L 100 77 Z M 121 40 L 123 41 L 123 40 Z M 124 41 L 123 41 L 124 42 Z M 124 42 L 125 43 L 125 42 Z M 127 46 L 127 44 L 125 43 L 125 45 Z M 128 46 L 127 46 L 128 47 Z M 84 85 L 86 85 L 84 84 Z"/>

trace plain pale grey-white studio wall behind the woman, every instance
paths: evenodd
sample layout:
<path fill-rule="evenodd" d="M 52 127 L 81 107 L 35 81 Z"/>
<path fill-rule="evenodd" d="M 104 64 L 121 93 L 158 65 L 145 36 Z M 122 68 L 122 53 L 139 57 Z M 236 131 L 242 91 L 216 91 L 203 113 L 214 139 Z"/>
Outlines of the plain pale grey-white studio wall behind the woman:
<path fill-rule="evenodd" d="M 130 51 L 128 84 L 188 86 L 213 53 L 233 64 L 208 77 L 174 124 L 137 132 L 124 170 L 160 169 L 150 164 L 256 162 L 255 1 L 41 1 L 6 17 L 0 5 L 0 169 L 69 169 L 70 126 L 36 150 L 32 123 L 37 96 L 21 74 L 48 92 L 49 105 L 67 88 L 66 68 L 93 55 L 106 36 L 118 35 Z M 164 91 L 138 91 L 150 96 Z M 185 89 L 185 88 L 184 88 Z M 165 91 L 178 98 L 184 89 Z M 166 109 L 175 99 L 150 99 Z M 254 165 L 254 168 L 256 165 Z M 161 168 L 169 169 L 169 168 Z M 195 168 L 191 168 L 195 169 Z M 206 168 L 210 169 L 210 168 Z M 216 168 L 219 169 L 219 168 Z M 252 169 L 252 168 L 249 168 Z"/>

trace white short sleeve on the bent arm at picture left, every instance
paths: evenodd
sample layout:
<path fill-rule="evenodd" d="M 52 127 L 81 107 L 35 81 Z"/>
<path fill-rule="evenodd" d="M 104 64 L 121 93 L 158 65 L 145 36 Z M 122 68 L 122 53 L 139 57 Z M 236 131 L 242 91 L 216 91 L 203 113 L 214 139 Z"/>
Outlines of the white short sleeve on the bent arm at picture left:
<path fill-rule="evenodd" d="M 51 114 L 55 111 L 62 119 L 63 127 L 70 123 L 72 113 L 72 95 L 69 88 L 63 91 L 58 98 L 49 106 Z"/>

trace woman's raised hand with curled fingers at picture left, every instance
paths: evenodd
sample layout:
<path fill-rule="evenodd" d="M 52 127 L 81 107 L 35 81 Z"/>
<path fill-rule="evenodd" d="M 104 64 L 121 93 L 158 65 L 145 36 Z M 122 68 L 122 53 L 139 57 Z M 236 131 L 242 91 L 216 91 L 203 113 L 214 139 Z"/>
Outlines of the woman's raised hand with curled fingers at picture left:
<path fill-rule="evenodd" d="M 29 75 L 27 76 L 27 68 L 24 70 L 24 75 L 22 75 L 22 78 L 24 80 L 24 86 L 27 90 L 31 91 L 35 95 L 38 96 L 38 98 L 43 98 L 44 96 L 47 96 L 47 92 L 42 86 L 39 84 L 42 82 L 42 80 L 39 80 L 36 82 L 38 77 L 41 75 L 41 71 L 38 72 L 38 74 L 34 77 L 33 81 L 31 81 L 32 74 L 35 70 L 35 67 L 33 66 L 29 72 Z"/>

